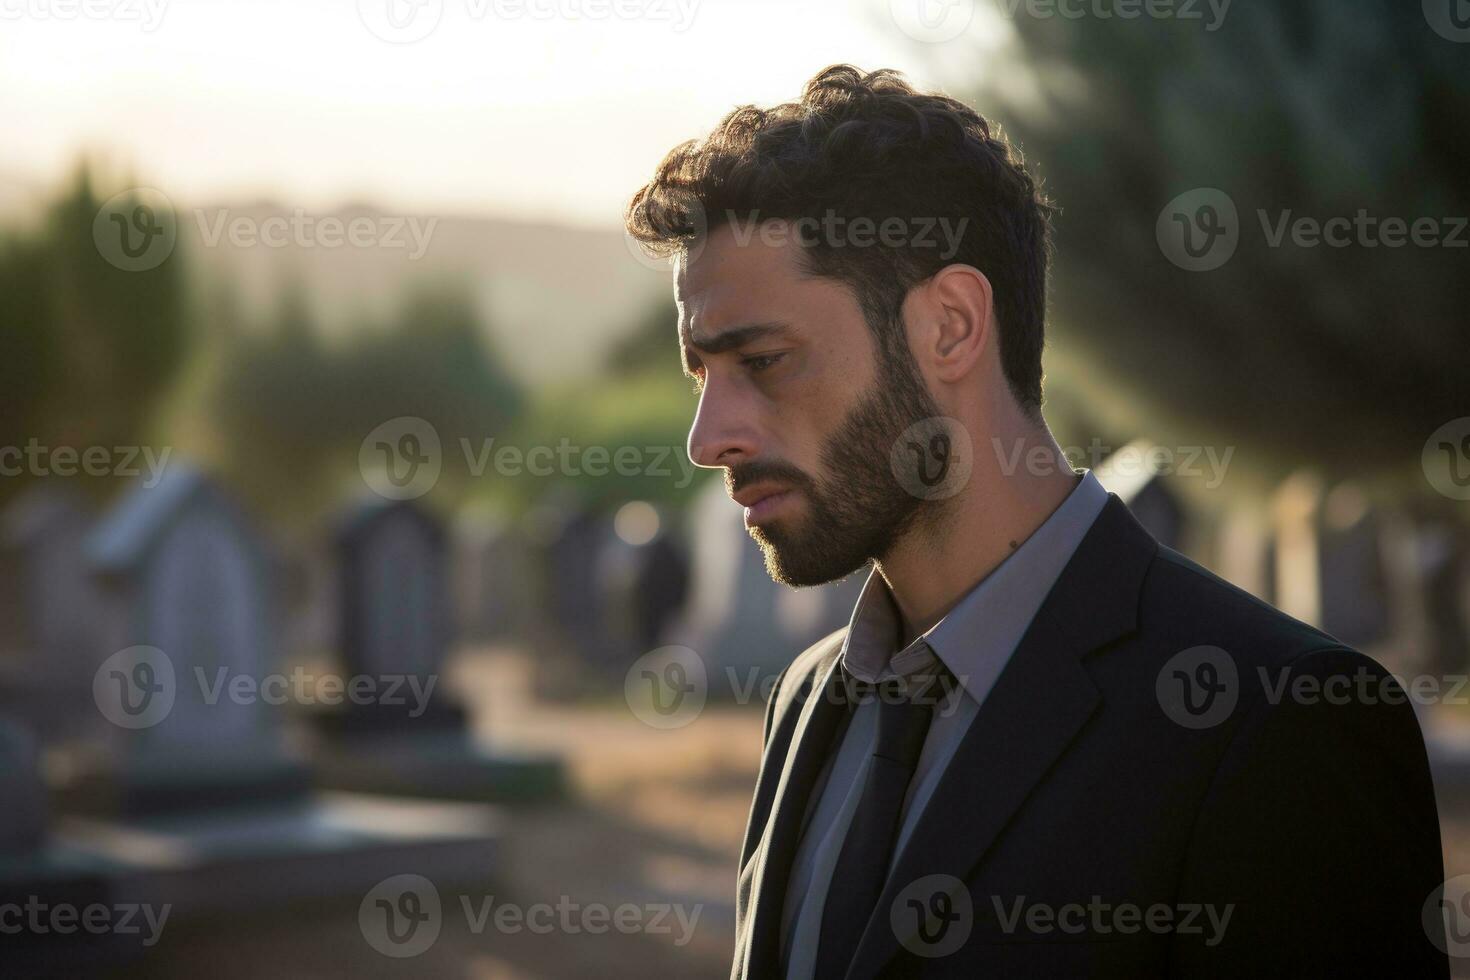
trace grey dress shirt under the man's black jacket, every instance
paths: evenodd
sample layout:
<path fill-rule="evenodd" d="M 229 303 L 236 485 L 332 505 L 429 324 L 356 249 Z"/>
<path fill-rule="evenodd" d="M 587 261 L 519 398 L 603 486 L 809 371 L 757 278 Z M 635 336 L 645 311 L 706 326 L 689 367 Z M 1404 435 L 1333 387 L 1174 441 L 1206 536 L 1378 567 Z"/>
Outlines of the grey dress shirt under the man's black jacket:
<path fill-rule="evenodd" d="M 1076 489 L 1030 538 L 929 632 L 897 652 L 900 616 L 892 592 L 876 572 L 867 576 L 833 670 L 845 669 L 860 680 L 878 682 L 923 670 L 938 657 L 964 692 L 935 705 L 919 767 L 908 785 L 889 867 L 903 852 L 919 814 L 991 686 L 1104 504 L 1107 491 L 1092 473 L 1083 473 Z M 873 701 L 853 711 L 836 751 L 813 788 L 782 909 L 782 961 L 788 980 L 811 980 L 822 933 L 822 905 L 853 811 L 863 795 L 876 721 L 878 704 Z"/>

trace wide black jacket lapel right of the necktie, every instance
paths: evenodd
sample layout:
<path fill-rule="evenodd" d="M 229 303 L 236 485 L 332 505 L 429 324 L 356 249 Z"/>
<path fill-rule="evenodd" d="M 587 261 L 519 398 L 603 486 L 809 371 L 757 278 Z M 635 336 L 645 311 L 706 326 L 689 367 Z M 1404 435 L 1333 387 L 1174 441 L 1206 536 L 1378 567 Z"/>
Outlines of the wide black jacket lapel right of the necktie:
<path fill-rule="evenodd" d="M 878 976 L 898 952 L 889 920 L 898 893 L 928 874 L 967 877 L 1086 724 L 1098 692 L 1082 657 L 1135 629 L 1138 594 L 1157 547 L 1110 495 L 919 817 L 858 943 L 850 980 Z M 917 920 L 898 924 L 917 929 Z"/>

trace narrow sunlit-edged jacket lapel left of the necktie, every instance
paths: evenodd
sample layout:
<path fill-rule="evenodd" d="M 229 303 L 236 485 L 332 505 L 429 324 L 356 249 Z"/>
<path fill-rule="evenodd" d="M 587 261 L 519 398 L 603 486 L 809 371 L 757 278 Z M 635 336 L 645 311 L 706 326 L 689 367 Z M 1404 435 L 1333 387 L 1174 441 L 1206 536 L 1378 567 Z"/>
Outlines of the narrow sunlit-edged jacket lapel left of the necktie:
<path fill-rule="evenodd" d="M 847 717 L 845 692 L 836 669 L 841 651 L 841 642 L 833 644 L 820 658 L 807 680 L 811 693 L 801 710 L 788 708 L 782 717 L 782 727 L 788 727 L 788 732 L 776 735 L 786 735 L 786 739 L 772 739 L 773 745 L 788 748 L 770 818 L 754 858 L 757 865 L 751 890 L 756 901 L 747 937 L 745 970 L 741 974 L 745 977 L 775 977 L 781 971 L 782 908 L 791 864 L 801 839 L 801 824 L 832 739 Z"/>

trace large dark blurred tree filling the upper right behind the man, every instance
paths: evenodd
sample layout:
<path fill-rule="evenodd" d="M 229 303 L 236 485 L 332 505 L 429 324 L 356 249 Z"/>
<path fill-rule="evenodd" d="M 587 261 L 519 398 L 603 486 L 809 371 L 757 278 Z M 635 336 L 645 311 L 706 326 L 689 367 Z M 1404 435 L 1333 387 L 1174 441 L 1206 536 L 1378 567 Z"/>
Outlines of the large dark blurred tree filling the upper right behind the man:
<path fill-rule="evenodd" d="M 1055 332 L 1142 397 L 1151 435 L 1227 430 L 1282 466 L 1339 472 L 1417 460 L 1470 411 L 1470 57 L 1419 3 L 1238 3 L 1213 31 L 1211 18 L 1023 6 L 1020 44 L 980 82 L 1061 206 Z M 1239 215 L 1238 250 L 1208 272 L 1176 267 L 1155 237 L 1192 188 L 1225 191 Z M 1354 231 L 1347 247 L 1298 247 L 1288 231 L 1273 247 L 1263 228 L 1360 210 L 1435 219 L 1460 244 L 1374 247 Z"/>

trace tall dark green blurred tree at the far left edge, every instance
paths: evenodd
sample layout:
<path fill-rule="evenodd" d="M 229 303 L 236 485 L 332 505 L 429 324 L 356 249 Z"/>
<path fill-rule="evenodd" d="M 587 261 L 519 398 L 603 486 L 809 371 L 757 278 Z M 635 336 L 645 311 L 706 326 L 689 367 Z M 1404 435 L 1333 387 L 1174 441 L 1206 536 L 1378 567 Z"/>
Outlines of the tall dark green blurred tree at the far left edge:
<path fill-rule="evenodd" d="M 143 272 L 109 263 L 93 239 L 101 206 L 82 165 L 37 229 L 0 242 L 0 445 L 147 442 L 184 363 L 179 257 Z"/>

